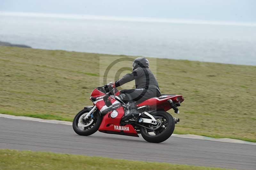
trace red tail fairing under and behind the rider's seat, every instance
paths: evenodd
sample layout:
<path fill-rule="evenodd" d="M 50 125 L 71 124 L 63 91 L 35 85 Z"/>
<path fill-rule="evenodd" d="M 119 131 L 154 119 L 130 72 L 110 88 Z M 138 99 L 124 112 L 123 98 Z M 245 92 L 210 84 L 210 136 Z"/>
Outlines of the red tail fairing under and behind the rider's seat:
<path fill-rule="evenodd" d="M 184 101 L 184 98 L 180 95 L 164 95 L 160 97 L 150 98 L 144 102 L 136 105 L 137 107 L 148 105 L 151 109 L 164 109 L 164 111 L 170 110 L 172 107 L 170 102 L 167 100 L 172 99 L 174 103 L 181 103 Z"/>

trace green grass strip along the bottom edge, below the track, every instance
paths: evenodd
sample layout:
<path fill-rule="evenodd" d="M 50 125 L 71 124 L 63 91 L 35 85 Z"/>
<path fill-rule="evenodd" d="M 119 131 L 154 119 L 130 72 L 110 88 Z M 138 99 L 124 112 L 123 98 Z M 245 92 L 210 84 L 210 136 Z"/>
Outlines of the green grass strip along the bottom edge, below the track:
<path fill-rule="evenodd" d="M 0 150 L 0 170 L 57 170 L 57 169 L 177 169 L 220 170 L 222 168 L 189 166 L 158 162 L 130 161 L 52 152 Z"/>

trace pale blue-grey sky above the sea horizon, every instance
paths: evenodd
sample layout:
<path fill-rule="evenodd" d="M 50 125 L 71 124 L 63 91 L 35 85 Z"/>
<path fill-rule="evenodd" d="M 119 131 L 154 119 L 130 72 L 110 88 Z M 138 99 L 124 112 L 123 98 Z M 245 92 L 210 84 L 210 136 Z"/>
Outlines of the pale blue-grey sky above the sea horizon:
<path fill-rule="evenodd" d="M 256 0 L 0 0 L 0 11 L 256 22 Z"/>

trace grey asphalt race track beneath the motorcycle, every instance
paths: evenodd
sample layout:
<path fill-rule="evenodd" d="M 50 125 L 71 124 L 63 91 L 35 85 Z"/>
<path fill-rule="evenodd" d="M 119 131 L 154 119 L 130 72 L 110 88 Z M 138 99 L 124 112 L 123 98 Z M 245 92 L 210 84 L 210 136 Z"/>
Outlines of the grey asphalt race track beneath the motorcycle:
<path fill-rule="evenodd" d="M 256 169 L 256 145 L 172 136 L 163 143 L 148 143 L 141 136 L 100 132 L 79 136 L 69 125 L 7 118 L 0 118 L 0 148 Z"/>

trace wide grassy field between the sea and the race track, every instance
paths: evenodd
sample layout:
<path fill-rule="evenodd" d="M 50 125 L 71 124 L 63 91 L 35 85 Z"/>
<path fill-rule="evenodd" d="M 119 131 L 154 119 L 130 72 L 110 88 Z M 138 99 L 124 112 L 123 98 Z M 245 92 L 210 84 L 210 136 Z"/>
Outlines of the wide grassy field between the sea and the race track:
<path fill-rule="evenodd" d="M 0 112 L 72 121 L 92 105 L 103 73 L 127 56 L 0 47 Z M 132 57 L 135 58 L 135 57 Z M 256 142 L 256 66 L 149 58 L 164 94 L 180 94 L 180 123 L 174 133 L 228 137 Z M 120 62 L 131 67 L 131 62 Z M 107 81 L 127 73 L 116 66 Z M 120 76 L 119 76 L 120 74 Z M 134 82 L 122 88 L 132 88 Z"/>

